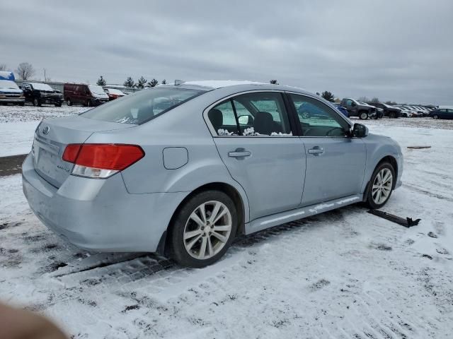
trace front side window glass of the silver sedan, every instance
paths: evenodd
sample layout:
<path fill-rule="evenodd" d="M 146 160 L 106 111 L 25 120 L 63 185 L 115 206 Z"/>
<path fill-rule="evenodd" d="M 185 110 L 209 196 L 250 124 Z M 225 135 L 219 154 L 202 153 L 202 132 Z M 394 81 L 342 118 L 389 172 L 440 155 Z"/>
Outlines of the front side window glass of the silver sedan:
<path fill-rule="evenodd" d="M 350 126 L 331 107 L 304 95 L 290 95 L 302 128 L 302 136 L 346 136 Z"/>

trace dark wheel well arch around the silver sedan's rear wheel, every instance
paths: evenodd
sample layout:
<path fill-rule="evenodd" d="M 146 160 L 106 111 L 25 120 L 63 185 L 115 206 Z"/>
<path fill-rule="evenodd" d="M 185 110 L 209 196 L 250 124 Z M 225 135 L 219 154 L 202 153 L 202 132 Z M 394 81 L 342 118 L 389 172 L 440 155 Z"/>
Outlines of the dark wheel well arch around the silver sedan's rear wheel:
<path fill-rule="evenodd" d="M 186 196 L 183 199 L 183 201 L 180 202 L 180 204 L 178 205 L 178 208 L 176 208 L 175 212 L 173 213 L 173 216 L 171 217 L 170 222 L 168 223 L 166 232 L 164 232 L 164 234 L 161 237 L 161 240 L 159 242 L 159 246 L 157 249 L 158 253 L 168 255 L 168 253 L 167 253 L 168 248 L 169 248 L 168 241 L 170 239 L 170 237 L 168 237 L 168 235 L 171 232 L 171 230 L 169 230 L 169 227 L 172 225 L 173 219 L 176 218 L 178 211 L 180 210 L 180 208 L 182 206 L 184 206 L 186 201 L 188 201 L 190 198 L 195 196 L 195 194 L 199 194 L 202 191 L 222 191 L 224 194 L 226 194 L 227 196 L 229 196 L 231 198 L 231 200 L 234 203 L 234 206 L 236 207 L 236 211 L 238 214 L 238 230 L 237 230 L 236 236 L 239 234 L 243 234 L 245 210 L 244 210 L 241 195 L 233 186 L 231 186 L 229 184 L 225 184 L 223 182 L 212 182 L 210 184 L 205 184 L 203 186 L 198 187 L 194 191 L 190 192 L 190 194 L 188 196 Z"/>

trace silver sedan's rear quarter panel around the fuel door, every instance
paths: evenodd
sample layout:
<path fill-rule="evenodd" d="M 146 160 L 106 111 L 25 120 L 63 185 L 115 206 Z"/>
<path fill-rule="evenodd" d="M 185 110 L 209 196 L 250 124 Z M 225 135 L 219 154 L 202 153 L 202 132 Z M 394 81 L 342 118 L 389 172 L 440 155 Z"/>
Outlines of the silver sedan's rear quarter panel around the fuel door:
<path fill-rule="evenodd" d="M 199 98 L 131 129 L 93 133 L 86 143 L 127 143 L 143 148 L 144 158 L 121 173 L 130 194 L 190 194 L 205 184 L 221 182 L 239 192 L 247 222 L 246 193 L 219 156 L 202 118 L 205 106 Z M 171 147 L 188 150 L 188 162 L 178 169 L 166 169 L 164 165 L 164 149 Z"/>

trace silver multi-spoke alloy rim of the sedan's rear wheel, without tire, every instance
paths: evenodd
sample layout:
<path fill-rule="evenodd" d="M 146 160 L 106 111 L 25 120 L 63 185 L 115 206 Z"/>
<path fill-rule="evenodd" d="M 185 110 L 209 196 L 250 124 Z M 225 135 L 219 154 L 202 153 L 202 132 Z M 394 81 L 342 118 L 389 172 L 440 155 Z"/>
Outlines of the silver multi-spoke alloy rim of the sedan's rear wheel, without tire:
<path fill-rule="evenodd" d="M 231 234 L 231 212 L 220 201 L 207 201 L 195 208 L 185 222 L 185 250 L 193 258 L 205 260 L 221 251 Z"/>

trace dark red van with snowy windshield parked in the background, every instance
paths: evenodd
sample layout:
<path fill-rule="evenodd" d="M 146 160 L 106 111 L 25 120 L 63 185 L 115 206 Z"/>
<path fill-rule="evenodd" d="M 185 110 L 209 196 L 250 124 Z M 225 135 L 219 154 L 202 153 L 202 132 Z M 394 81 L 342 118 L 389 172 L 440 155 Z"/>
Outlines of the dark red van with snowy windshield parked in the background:
<path fill-rule="evenodd" d="M 98 85 L 84 83 L 65 83 L 63 87 L 64 100 L 68 106 L 79 104 L 84 106 L 98 106 L 108 102 L 108 95 Z"/>

